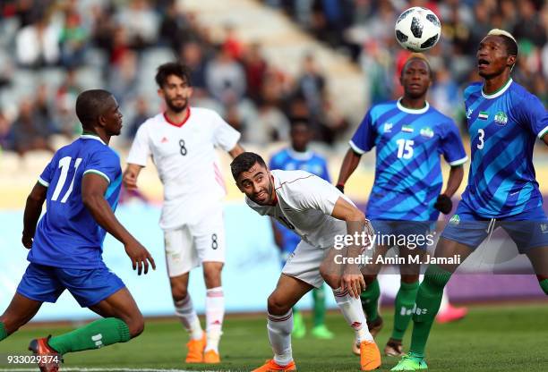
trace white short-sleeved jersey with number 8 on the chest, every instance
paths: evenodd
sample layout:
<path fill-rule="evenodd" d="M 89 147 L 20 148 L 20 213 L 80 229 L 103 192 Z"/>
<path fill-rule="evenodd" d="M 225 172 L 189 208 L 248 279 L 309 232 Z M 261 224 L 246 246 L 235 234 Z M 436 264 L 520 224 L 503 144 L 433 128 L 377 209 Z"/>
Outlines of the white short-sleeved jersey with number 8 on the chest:
<path fill-rule="evenodd" d="M 164 184 L 162 229 L 182 226 L 197 213 L 207 213 L 226 195 L 215 148 L 235 148 L 240 133 L 216 112 L 189 107 L 183 123 L 171 123 L 165 114 L 139 127 L 127 162 L 147 165 L 149 156 Z"/>

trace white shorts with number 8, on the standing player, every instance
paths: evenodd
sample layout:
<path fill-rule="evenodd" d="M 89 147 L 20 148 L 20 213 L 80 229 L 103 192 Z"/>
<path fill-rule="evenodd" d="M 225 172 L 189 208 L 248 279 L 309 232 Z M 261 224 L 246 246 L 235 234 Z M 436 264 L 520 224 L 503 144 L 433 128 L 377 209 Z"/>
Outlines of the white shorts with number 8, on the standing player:
<path fill-rule="evenodd" d="M 225 262 L 222 207 L 191 224 L 164 231 L 167 275 L 183 275 L 207 261 Z"/>

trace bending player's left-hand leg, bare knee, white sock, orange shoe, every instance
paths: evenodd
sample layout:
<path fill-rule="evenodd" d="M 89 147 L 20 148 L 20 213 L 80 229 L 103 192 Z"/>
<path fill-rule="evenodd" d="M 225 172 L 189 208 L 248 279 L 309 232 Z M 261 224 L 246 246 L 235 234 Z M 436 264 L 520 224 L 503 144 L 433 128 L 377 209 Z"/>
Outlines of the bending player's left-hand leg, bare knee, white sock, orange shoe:
<path fill-rule="evenodd" d="M 280 275 L 276 289 L 270 294 L 268 300 L 267 329 L 274 358 L 268 360 L 260 368 L 254 369 L 254 372 L 295 370 L 291 350 L 291 330 L 293 328 L 291 308 L 312 289 L 313 285 L 294 276 Z"/>

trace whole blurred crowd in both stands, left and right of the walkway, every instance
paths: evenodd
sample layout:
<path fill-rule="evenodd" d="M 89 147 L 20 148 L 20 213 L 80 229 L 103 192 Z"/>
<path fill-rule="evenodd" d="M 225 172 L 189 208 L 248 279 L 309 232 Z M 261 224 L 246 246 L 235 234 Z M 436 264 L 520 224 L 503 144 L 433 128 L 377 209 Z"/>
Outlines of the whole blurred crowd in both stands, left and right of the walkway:
<path fill-rule="evenodd" d="M 514 78 L 548 104 L 548 4 L 543 1 L 262 2 L 359 63 L 372 104 L 401 95 L 398 73 L 408 52 L 398 47 L 392 25 L 414 5 L 431 8 L 443 25 L 440 43 L 428 54 L 435 72 L 433 106 L 464 116 L 462 88 L 477 79 L 476 46 L 494 27 L 518 38 Z M 75 98 L 82 89 L 99 87 L 120 102 L 129 143 L 144 118 L 161 110 L 154 69 L 177 58 L 192 69 L 193 104 L 218 111 L 248 143 L 287 140 L 295 120 L 309 121 L 315 139 L 328 145 L 346 140 L 341 133 L 350 124 L 330 102 L 329 81 L 314 55 L 295 61 L 301 72 L 290 76 L 269 63 L 260 44 L 244 45 L 234 25 L 224 30 L 224 40 L 213 42 L 210 30 L 177 0 L 0 2 L 0 146 L 22 155 L 52 150 L 51 136 L 73 138 L 80 131 Z"/>

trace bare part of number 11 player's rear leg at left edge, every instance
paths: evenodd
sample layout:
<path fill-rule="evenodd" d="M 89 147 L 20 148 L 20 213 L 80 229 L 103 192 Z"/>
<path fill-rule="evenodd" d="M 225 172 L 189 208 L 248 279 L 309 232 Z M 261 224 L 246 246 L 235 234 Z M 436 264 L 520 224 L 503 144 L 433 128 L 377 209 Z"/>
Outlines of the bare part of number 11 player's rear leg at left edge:
<path fill-rule="evenodd" d="M 21 325 L 26 325 L 36 315 L 42 306 L 42 301 L 30 300 L 19 293 L 0 316 L 0 341 L 17 331 Z"/>

